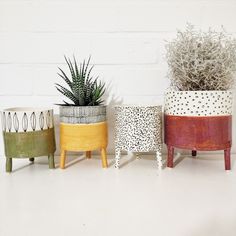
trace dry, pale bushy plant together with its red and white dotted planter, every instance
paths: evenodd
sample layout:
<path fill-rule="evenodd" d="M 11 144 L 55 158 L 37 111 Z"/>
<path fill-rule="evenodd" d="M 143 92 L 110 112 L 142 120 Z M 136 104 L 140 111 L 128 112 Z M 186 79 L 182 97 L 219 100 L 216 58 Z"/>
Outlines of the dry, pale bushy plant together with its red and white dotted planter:
<path fill-rule="evenodd" d="M 230 169 L 232 103 L 236 40 L 225 31 L 202 32 L 188 25 L 167 44 L 171 80 L 165 93 L 167 166 L 173 167 L 174 147 L 224 150 Z"/>

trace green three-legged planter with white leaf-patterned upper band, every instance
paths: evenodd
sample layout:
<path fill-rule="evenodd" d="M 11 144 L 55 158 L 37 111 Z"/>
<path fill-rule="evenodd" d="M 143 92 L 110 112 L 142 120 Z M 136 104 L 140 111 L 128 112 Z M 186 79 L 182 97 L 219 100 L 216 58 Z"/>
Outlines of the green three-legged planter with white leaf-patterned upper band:
<path fill-rule="evenodd" d="M 12 171 L 13 158 L 48 156 L 49 168 L 55 168 L 56 151 L 52 109 L 16 107 L 1 112 L 6 171 Z"/>

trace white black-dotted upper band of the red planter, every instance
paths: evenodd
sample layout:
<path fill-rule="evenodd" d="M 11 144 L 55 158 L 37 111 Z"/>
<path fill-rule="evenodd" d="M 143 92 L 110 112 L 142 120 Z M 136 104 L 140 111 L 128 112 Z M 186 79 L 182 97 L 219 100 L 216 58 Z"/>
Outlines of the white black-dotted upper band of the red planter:
<path fill-rule="evenodd" d="M 232 107 L 232 91 L 168 91 L 165 94 L 166 115 L 232 115 Z"/>

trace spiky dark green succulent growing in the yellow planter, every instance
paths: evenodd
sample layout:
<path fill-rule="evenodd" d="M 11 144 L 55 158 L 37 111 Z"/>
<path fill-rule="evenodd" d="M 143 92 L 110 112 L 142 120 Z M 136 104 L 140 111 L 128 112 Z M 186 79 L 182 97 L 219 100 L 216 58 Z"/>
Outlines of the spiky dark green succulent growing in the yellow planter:
<path fill-rule="evenodd" d="M 65 57 L 69 67 L 70 76 L 61 69 L 58 75 L 66 82 L 67 87 L 55 84 L 56 89 L 65 97 L 69 98 L 73 104 L 63 101 L 67 106 L 97 106 L 102 104 L 102 95 L 105 93 L 105 83 L 91 76 L 93 66 L 90 66 L 90 57 L 87 62 L 84 60 L 79 66 L 75 57 L 73 62 Z"/>

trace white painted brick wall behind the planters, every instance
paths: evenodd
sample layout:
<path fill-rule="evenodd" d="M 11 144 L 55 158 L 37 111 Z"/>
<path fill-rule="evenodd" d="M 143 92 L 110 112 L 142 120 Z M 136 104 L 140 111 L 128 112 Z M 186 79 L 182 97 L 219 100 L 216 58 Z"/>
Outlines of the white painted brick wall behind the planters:
<path fill-rule="evenodd" d="M 92 55 L 94 73 L 109 88 L 112 152 L 112 105 L 163 102 L 169 84 L 164 40 L 186 22 L 223 25 L 236 35 L 236 1 L 0 0 L 0 109 L 53 106 L 58 114 L 54 104 L 62 99 L 54 83 L 61 81 L 57 67 L 66 68 L 63 55 Z"/>

